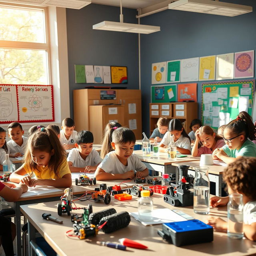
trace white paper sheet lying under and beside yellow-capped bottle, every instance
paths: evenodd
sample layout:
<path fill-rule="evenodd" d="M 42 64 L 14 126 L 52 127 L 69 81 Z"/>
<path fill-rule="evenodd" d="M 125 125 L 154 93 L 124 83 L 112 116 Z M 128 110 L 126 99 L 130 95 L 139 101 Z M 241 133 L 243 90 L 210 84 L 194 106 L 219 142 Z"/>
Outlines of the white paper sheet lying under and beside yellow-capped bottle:
<path fill-rule="evenodd" d="M 139 220 L 138 212 L 130 212 L 136 220 Z M 162 224 L 168 222 L 177 222 L 177 221 L 184 221 L 187 220 L 186 218 L 180 216 L 176 212 L 168 209 L 156 209 L 152 211 L 153 220 L 150 221 L 140 221 L 144 226 L 154 225 L 154 224 Z"/>

